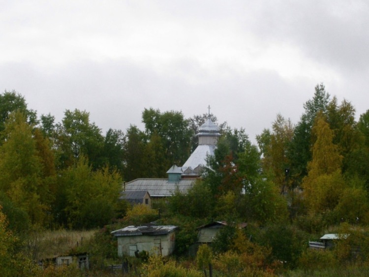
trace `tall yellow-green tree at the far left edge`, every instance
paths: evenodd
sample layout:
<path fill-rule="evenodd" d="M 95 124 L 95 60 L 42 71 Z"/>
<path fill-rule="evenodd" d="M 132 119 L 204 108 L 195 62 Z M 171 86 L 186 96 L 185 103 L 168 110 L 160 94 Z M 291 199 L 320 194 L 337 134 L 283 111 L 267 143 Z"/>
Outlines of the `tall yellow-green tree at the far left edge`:
<path fill-rule="evenodd" d="M 32 129 L 21 112 L 9 115 L 0 147 L 0 189 L 27 211 L 32 223 L 43 224 L 49 188 L 42 182 L 44 167 Z"/>

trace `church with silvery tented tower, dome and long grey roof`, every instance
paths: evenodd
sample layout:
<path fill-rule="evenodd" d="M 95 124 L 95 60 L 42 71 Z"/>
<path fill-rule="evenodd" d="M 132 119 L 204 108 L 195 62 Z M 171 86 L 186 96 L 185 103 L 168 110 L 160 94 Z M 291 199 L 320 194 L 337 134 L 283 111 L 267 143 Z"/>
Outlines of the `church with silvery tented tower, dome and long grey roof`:
<path fill-rule="evenodd" d="M 183 166 L 173 165 L 168 179 L 139 178 L 123 185 L 123 190 L 147 190 L 152 198 L 171 196 L 176 189 L 186 192 L 201 177 L 207 156 L 213 156 L 220 137 L 219 127 L 210 119 L 199 127 L 199 144 Z"/>

